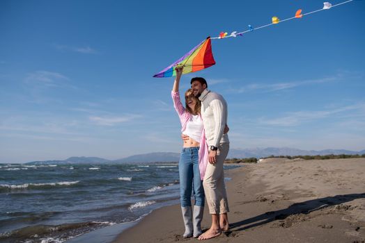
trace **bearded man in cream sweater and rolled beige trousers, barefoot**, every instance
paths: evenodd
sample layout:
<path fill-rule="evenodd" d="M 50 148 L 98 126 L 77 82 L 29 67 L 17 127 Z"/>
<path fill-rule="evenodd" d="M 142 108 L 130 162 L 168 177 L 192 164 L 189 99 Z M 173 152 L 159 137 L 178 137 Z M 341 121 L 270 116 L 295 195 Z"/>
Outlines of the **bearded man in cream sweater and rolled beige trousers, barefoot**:
<path fill-rule="evenodd" d="M 228 230 L 228 200 L 224 185 L 223 163 L 229 150 L 228 135 L 224 134 L 227 124 L 227 103 L 222 95 L 208 90 L 204 78 L 192 78 L 193 94 L 201 101 L 201 117 L 208 143 L 208 166 L 205 171 L 203 186 L 209 212 L 212 215 L 212 226 L 199 236 L 199 240 L 217 237 Z"/>

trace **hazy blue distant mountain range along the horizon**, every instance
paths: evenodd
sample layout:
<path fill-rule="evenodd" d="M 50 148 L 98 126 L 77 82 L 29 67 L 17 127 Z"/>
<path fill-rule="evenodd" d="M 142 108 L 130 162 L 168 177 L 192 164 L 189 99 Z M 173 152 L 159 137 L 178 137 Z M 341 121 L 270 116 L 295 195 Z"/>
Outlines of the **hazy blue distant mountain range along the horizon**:
<path fill-rule="evenodd" d="M 345 149 L 302 150 L 291 148 L 256 148 L 256 149 L 230 149 L 228 158 L 263 158 L 268 156 L 325 156 L 328 154 L 364 154 L 362 151 L 349 151 Z M 143 153 L 118 160 L 107 160 L 98 157 L 70 157 L 65 160 L 33 161 L 26 164 L 103 164 L 103 163 L 150 163 L 150 162 L 178 162 L 180 153 Z"/>

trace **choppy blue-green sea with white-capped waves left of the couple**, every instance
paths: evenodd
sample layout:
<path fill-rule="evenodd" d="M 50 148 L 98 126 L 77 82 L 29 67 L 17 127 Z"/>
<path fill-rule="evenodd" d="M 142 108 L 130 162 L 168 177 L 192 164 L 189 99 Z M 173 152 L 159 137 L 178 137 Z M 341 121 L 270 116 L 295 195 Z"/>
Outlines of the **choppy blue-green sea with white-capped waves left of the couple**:
<path fill-rule="evenodd" d="M 92 232 L 111 242 L 177 204 L 178 178 L 178 164 L 0 164 L 0 242 L 78 242 Z M 116 230 L 100 231 L 107 227 Z"/>

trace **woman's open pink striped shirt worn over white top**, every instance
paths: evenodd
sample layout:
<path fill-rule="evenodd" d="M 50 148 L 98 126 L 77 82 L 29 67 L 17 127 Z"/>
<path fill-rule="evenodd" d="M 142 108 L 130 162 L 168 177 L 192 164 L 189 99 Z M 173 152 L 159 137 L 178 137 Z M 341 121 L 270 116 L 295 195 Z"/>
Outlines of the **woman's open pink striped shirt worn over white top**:
<path fill-rule="evenodd" d="M 180 93 L 171 91 L 171 97 L 173 100 L 173 107 L 176 112 L 178 112 L 180 122 L 181 122 L 181 132 L 185 131 L 187 122 L 190 120 L 192 116 L 183 106 L 183 103 L 180 101 Z M 199 114 L 199 117 L 201 115 Z M 208 165 L 208 144 L 205 140 L 205 131 L 203 129 L 203 133 L 201 134 L 200 147 L 199 147 L 199 171 L 200 178 L 203 181 L 205 176 L 205 170 Z"/>

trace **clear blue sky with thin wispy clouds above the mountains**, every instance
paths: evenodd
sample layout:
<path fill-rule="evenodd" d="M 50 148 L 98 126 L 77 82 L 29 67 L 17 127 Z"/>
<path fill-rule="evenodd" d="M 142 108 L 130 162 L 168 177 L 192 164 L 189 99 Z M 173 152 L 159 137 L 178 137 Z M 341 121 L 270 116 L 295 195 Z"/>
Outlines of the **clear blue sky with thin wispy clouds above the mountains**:
<path fill-rule="evenodd" d="M 332 4 L 341 1 L 331 1 Z M 323 1 L 0 1 L 0 162 L 179 152 L 173 78 L 208 35 Z M 365 149 L 365 1 L 212 40 L 231 148 Z"/>

